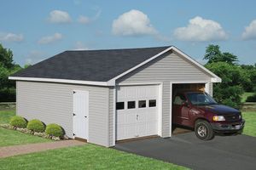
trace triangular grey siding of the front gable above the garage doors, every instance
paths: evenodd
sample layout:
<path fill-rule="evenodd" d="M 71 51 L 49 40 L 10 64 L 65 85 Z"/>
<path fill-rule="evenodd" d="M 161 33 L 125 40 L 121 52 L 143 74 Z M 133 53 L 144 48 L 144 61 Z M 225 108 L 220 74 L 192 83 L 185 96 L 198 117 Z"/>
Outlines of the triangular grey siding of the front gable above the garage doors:
<path fill-rule="evenodd" d="M 175 53 L 167 53 L 141 66 L 118 82 L 211 82 L 212 76 Z"/>

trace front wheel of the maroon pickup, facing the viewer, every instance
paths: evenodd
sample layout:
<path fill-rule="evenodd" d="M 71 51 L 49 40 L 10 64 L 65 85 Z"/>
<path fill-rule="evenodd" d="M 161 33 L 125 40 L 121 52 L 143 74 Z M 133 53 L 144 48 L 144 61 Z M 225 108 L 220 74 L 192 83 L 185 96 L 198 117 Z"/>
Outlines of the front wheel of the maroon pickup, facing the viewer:
<path fill-rule="evenodd" d="M 214 137 L 214 132 L 209 122 L 199 120 L 195 122 L 195 135 L 201 140 L 211 140 Z"/>

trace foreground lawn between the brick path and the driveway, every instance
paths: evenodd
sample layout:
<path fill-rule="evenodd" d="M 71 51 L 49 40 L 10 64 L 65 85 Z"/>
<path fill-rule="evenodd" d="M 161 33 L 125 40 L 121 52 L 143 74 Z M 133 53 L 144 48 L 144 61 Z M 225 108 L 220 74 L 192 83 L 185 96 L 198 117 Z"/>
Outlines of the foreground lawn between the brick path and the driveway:
<path fill-rule="evenodd" d="M 186 169 L 164 161 L 85 144 L 0 159 L 1 169 Z"/>

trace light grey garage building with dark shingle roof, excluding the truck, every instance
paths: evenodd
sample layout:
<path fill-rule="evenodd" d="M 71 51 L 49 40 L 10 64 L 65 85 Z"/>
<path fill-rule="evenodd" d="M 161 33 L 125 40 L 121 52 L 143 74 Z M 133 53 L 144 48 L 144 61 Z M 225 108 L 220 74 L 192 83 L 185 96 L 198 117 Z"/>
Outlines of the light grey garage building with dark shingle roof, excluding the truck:
<path fill-rule="evenodd" d="M 16 81 L 17 115 L 57 123 L 69 138 L 107 147 L 171 137 L 174 88 L 212 95 L 212 82 L 221 82 L 173 46 L 65 51 L 9 79 Z"/>

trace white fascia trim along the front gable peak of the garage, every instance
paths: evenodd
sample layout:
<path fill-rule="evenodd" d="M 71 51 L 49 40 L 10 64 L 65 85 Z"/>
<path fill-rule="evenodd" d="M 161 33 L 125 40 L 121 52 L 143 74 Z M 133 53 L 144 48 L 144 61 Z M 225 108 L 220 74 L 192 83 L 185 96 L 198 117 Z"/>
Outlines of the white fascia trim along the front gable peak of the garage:
<path fill-rule="evenodd" d="M 221 78 L 218 77 L 217 75 L 215 75 L 212 71 L 209 71 L 206 67 L 204 67 L 203 65 L 201 65 L 200 63 L 198 63 L 195 59 L 190 58 L 189 55 L 184 54 L 181 50 L 179 50 L 178 48 L 172 46 L 172 47 L 170 47 L 170 48 L 166 48 L 164 51 L 160 52 L 159 54 L 154 55 L 154 56 L 151 57 L 150 59 L 147 59 L 147 60 L 143 61 L 143 62 L 140 63 L 139 65 L 136 65 L 136 66 L 132 67 L 130 70 L 125 71 L 125 72 L 123 72 L 122 74 L 119 74 L 119 76 L 113 77 L 111 80 L 108 81 L 108 84 L 109 84 L 109 85 L 111 84 L 111 86 L 113 86 L 113 85 L 115 84 L 115 81 L 116 81 L 117 79 L 119 79 L 119 77 L 125 76 L 125 75 L 128 74 L 129 72 L 136 70 L 138 67 L 147 64 L 149 61 L 151 61 L 151 60 L 153 60 L 153 59 L 156 59 L 156 58 L 159 57 L 160 55 L 165 54 L 166 52 L 168 52 L 168 51 L 170 51 L 170 50 L 173 50 L 173 51 L 175 51 L 177 54 L 182 55 L 185 59 L 189 59 L 190 62 L 192 62 L 193 64 L 195 64 L 195 65 L 197 65 L 198 67 L 200 67 L 203 71 L 206 71 L 208 74 L 210 74 L 210 75 L 212 76 L 212 79 L 211 79 L 212 82 L 221 82 Z"/>

